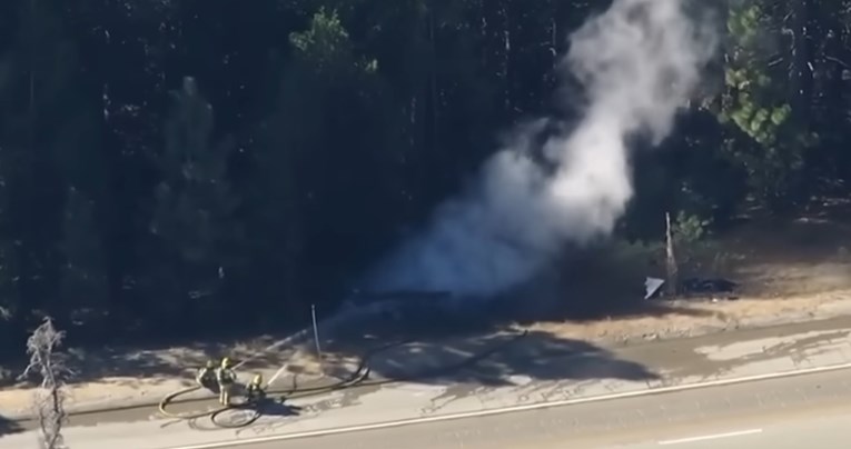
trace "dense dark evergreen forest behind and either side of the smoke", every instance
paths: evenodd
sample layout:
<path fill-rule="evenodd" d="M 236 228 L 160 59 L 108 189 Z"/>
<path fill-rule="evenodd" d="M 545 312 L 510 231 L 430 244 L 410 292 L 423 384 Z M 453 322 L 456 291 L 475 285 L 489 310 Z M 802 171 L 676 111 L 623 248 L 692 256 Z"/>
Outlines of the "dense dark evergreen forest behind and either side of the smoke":
<path fill-rule="evenodd" d="M 558 58 L 607 3 L 3 1 L 3 336 L 42 312 L 116 336 L 339 300 L 501 130 L 571 117 Z M 636 161 L 630 238 L 851 176 L 851 1 L 719 6 L 703 94 Z"/>

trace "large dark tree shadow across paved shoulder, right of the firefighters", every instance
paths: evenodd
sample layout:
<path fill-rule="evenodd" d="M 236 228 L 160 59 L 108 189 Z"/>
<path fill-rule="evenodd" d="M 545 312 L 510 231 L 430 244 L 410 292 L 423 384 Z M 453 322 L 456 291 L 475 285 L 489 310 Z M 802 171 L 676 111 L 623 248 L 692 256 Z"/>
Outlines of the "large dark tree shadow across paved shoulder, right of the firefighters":
<path fill-rule="evenodd" d="M 387 345 L 388 341 L 398 345 Z M 350 360 L 364 347 L 370 379 L 431 385 L 511 386 L 517 381 L 581 381 L 588 379 L 652 380 L 659 376 L 631 360 L 587 341 L 550 332 L 494 329 L 448 338 L 413 338 L 399 335 L 354 336 L 326 341 L 327 368 Z M 352 367 L 349 365 L 349 367 Z M 519 380 L 518 380 L 519 379 Z"/>

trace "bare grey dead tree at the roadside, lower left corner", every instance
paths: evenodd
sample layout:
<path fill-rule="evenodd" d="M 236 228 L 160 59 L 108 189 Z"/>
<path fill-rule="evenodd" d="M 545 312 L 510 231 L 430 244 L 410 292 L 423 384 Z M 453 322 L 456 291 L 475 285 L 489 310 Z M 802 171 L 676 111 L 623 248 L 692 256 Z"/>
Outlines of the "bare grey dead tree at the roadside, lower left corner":
<path fill-rule="evenodd" d="M 21 378 L 38 375 L 41 377 L 40 388 L 33 393 L 33 408 L 39 420 L 41 449 L 67 449 L 62 438 L 62 426 L 68 416 L 65 411 L 65 379 L 70 371 L 67 369 L 56 350 L 61 346 L 65 332 L 53 328 L 53 321 L 48 317 L 27 339 L 27 353 L 30 363 Z"/>

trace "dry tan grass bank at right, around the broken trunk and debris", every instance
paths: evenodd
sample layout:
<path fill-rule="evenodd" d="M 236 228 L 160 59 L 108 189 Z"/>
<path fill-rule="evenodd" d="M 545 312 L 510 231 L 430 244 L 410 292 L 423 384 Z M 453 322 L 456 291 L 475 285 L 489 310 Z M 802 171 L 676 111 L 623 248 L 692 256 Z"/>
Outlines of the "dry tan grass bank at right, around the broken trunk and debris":
<path fill-rule="evenodd" d="M 568 308 L 577 295 L 604 305 L 591 320 L 568 317 L 528 327 L 572 338 L 630 340 L 851 312 L 845 307 L 851 303 L 851 226 L 847 217 L 840 214 L 840 221 L 837 216 L 820 212 L 788 221 L 753 221 L 681 249 L 686 260 L 683 277 L 731 279 L 740 285 L 735 301 L 697 298 L 675 301 L 669 312 L 642 313 L 639 290 L 645 276 L 664 278 L 664 253 L 660 247 L 620 246 L 577 276 L 564 276 L 572 278 L 563 289 L 570 293 L 561 293 Z M 619 313 L 623 305 L 630 306 L 627 313 Z"/>

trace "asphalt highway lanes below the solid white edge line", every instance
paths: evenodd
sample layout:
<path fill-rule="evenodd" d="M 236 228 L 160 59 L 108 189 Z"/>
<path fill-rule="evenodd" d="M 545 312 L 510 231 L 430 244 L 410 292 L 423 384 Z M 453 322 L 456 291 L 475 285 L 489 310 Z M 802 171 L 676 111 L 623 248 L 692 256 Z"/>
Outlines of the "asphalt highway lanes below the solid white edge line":
<path fill-rule="evenodd" d="M 225 447 L 847 449 L 851 447 L 851 371 L 303 439 L 184 449 Z"/>

